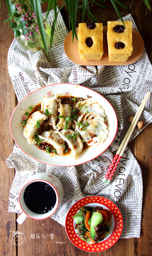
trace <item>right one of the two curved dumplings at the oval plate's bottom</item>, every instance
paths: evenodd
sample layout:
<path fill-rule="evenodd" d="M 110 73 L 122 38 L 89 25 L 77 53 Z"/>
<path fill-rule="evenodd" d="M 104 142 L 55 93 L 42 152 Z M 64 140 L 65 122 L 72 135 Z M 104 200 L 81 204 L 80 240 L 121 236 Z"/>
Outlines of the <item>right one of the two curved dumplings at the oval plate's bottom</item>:
<path fill-rule="evenodd" d="M 83 148 L 83 143 L 78 133 L 74 133 L 74 131 L 71 129 L 57 131 L 57 133 L 67 142 L 72 151 L 72 157 L 75 158 Z"/>

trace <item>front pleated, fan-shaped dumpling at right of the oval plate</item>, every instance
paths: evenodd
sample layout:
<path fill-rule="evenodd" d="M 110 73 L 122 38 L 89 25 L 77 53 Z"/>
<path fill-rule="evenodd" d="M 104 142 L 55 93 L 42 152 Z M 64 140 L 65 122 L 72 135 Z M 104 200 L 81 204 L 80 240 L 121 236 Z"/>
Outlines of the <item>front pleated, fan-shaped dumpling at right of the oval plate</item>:
<path fill-rule="evenodd" d="M 75 131 L 81 134 L 82 139 L 84 139 L 88 146 L 103 143 L 108 136 L 104 118 L 96 112 L 81 115 L 78 118 L 78 122 L 76 122 Z"/>

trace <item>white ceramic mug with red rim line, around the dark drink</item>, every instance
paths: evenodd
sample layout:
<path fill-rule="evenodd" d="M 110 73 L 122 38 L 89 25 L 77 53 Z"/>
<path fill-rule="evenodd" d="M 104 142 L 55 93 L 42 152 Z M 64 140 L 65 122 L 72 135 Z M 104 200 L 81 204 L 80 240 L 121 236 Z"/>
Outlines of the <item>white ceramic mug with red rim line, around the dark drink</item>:
<path fill-rule="evenodd" d="M 31 183 L 36 182 L 36 181 L 42 181 L 44 183 L 47 183 L 48 185 L 50 185 L 53 188 L 53 190 L 56 194 L 55 206 L 53 207 L 53 209 L 51 211 L 43 213 L 43 214 L 38 214 L 38 213 L 32 212 L 27 207 L 27 205 L 25 204 L 25 201 L 24 201 L 25 189 L 27 188 L 28 185 L 30 185 Z M 57 210 L 57 207 L 59 205 L 59 194 L 58 194 L 56 188 L 49 181 L 36 179 L 36 180 L 29 181 L 28 183 L 26 183 L 24 185 L 24 187 L 22 188 L 22 190 L 19 194 L 19 204 L 20 204 L 21 209 L 22 209 L 23 212 L 16 220 L 18 224 L 22 224 L 24 222 L 24 220 L 27 219 L 27 217 L 30 217 L 31 219 L 35 219 L 35 220 L 43 220 L 43 219 L 46 219 L 46 218 L 50 217 L 51 215 L 53 215 L 54 212 Z"/>

